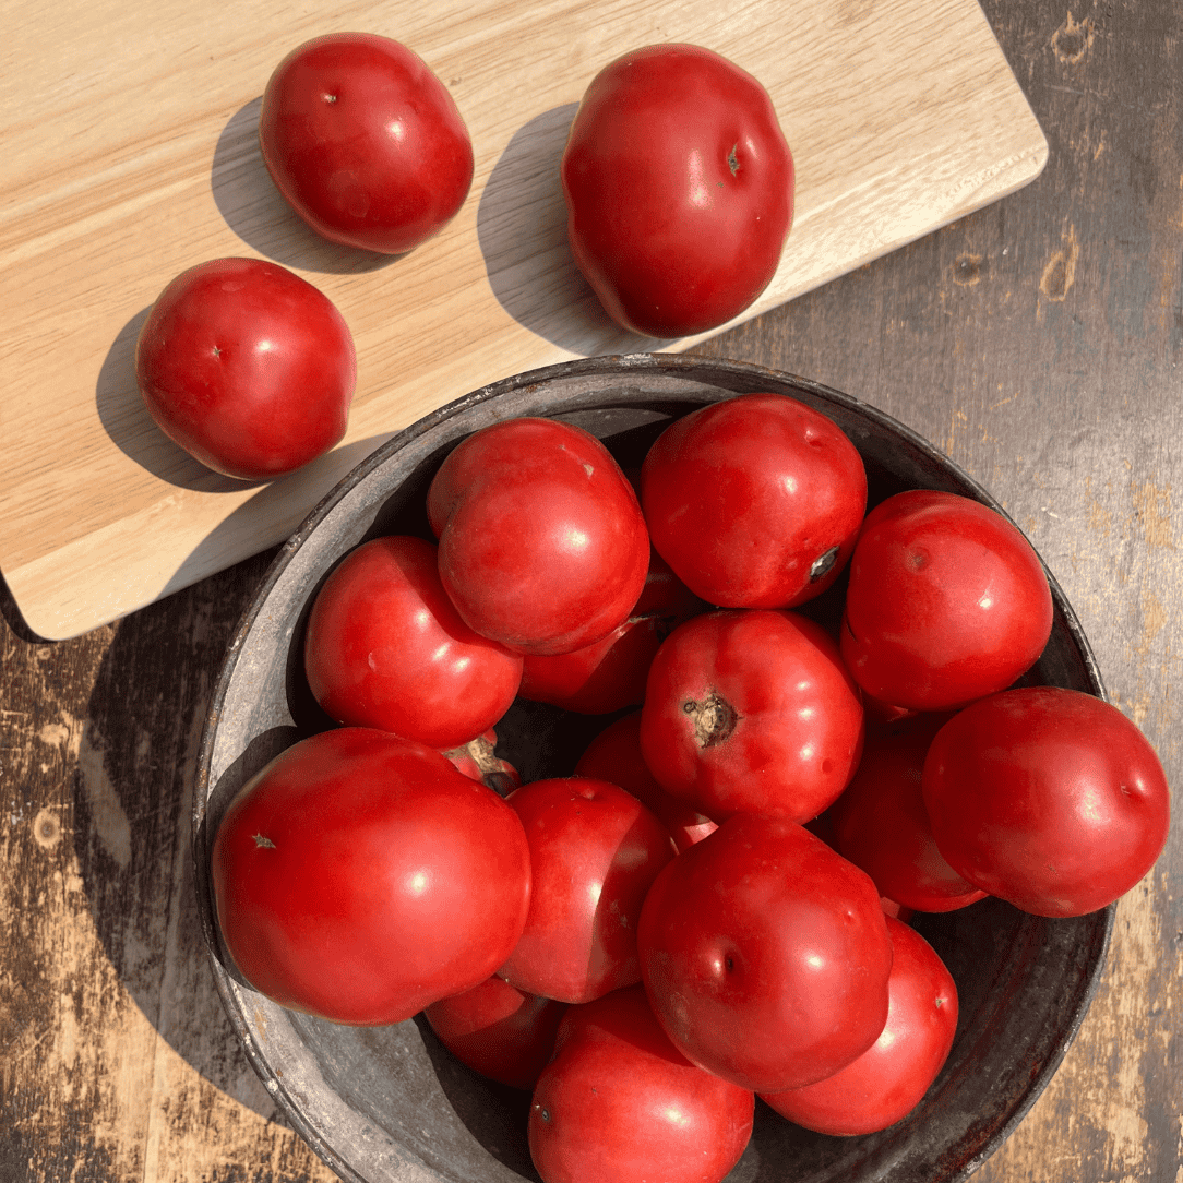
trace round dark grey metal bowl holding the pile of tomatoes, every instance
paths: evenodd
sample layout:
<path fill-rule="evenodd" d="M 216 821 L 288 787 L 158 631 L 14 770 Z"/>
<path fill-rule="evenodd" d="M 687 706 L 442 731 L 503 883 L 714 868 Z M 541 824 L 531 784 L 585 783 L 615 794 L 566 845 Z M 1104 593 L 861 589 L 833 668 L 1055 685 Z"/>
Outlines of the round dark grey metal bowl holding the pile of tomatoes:
<path fill-rule="evenodd" d="M 528 1095 L 455 1061 L 421 1020 L 337 1027 L 284 1010 L 237 974 L 220 939 L 208 880 L 218 820 L 241 784 L 299 735 L 328 722 L 300 673 L 303 622 L 332 565 L 366 538 L 431 537 L 428 481 L 463 437 L 512 415 L 549 415 L 599 435 L 626 465 L 673 418 L 733 394 L 771 390 L 825 412 L 866 464 L 871 502 L 901 489 L 950 490 L 1001 506 L 930 444 L 856 399 L 737 362 L 681 355 L 575 361 L 476 390 L 434 412 L 358 465 L 272 563 L 234 636 L 201 743 L 194 812 L 198 896 L 218 987 L 251 1062 L 279 1108 L 350 1183 L 513 1183 L 537 1179 L 525 1140 Z M 1051 576 L 1049 576 L 1051 577 Z M 1052 639 L 1024 680 L 1104 697 L 1097 662 L 1052 580 Z M 498 736 L 526 780 L 571 771 L 605 719 L 516 704 Z M 961 996 L 949 1060 L 920 1105 L 881 1133 L 808 1133 L 757 1104 L 735 1183 L 945 1183 L 996 1150 L 1042 1091 L 1074 1037 L 1105 963 L 1113 907 L 1077 919 L 1027 916 L 997 900 L 917 927 Z"/>

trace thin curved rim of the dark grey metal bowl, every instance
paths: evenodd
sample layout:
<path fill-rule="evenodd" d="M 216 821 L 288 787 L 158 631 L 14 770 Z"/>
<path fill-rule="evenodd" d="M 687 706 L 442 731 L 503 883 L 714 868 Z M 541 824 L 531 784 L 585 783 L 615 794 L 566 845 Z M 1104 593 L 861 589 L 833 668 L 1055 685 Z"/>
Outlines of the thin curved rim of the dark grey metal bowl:
<path fill-rule="evenodd" d="M 761 380 L 765 379 L 777 386 L 797 387 L 821 402 L 830 403 L 853 412 L 854 414 L 870 419 L 878 426 L 898 434 L 913 448 L 916 448 L 917 452 L 932 460 L 938 467 L 951 471 L 952 474 L 970 490 L 977 500 L 990 506 L 1006 517 L 1007 521 L 1011 522 L 1011 524 L 1015 525 L 1016 529 L 1019 529 L 1026 537 L 1026 531 L 1022 531 L 1019 523 L 1016 523 L 1006 509 L 994 498 L 994 496 L 969 472 L 958 465 L 956 460 L 938 450 L 933 444 L 918 432 L 913 431 L 906 424 L 896 419 L 881 408 L 875 407 L 873 403 L 865 402 L 822 382 L 789 371 L 772 369 L 752 362 L 736 361 L 731 358 L 716 358 L 694 354 L 633 353 L 601 355 L 595 357 L 574 358 L 567 362 L 557 362 L 500 379 L 486 386 L 479 387 L 476 390 L 471 390 L 451 402 L 444 403 L 437 409 L 421 416 L 415 422 L 395 432 L 368 457 L 345 473 L 337 481 L 337 484 L 334 485 L 332 489 L 330 489 L 309 511 L 304 521 L 292 532 L 287 541 L 280 545 L 260 580 L 254 595 L 251 597 L 247 607 L 244 609 L 239 619 L 232 640 L 222 658 L 218 678 L 208 699 L 206 719 L 202 726 L 198 750 L 198 771 L 193 814 L 190 819 L 190 841 L 194 855 L 193 886 L 195 887 L 198 894 L 198 906 L 201 914 L 201 927 L 206 944 L 206 952 L 213 964 L 215 985 L 221 997 L 224 1008 L 231 1019 L 235 1035 L 248 1062 L 266 1085 L 269 1094 L 276 1101 L 277 1107 L 283 1111 L 285 1119 L 309 1144 L 313 1152 L 328 1166 L 336 1171 L 336 1174 L 340 1175 L 345 1183 L 371 1183 L 371 1181 L 358 1174 L 331 1145 L 328 1144 L 325 1138 L 322 1137 L 319 1130 L 305 1118 L 295 1098 L 289 1095 L 287 1090 L 284 1087 L 284 1082 L 271 1071 L 261 1048 L 251 1036 L 246 1017 L 243 1015 L 233 994 L 231 975 L 221 961 L 221 944 L 218 935 L 208 872 L 208 855 L 209 847 L 212 845 L 212 835 L 207 833 L 205 823 L 206 806 L 213 789 L 211 783 L 211 770 L 213 763 L 214 739 L 225 707 L 226 698 L 233 681 L 239 657 L 241 655 L 247 638 L 250 636 L 272 590 L 289 564 L 296 557 L 305 539 L 309 538 L 309 536 L 351 490 L 366 480 L 367 477 L 369 477 L 376 468 L 381 467 L 392 455 L 402 451 L 419 438 L 426 435 L 439 424 L 442 424 L 472 407 L 480 406 L 481 403 L 489 402 L 493 399 L 503 397 L 512 392 L 548 383 L 554 379 L 596 376 L 623 377 L 629 374 L 668 374 L 674 377 L 690 380 L 693 380 L 696 376 L 706 375 L 703 380 L 711 381 L 712 384 L 717 384 L 712 381 L 713 376 L 726 375 L 750 388 L 752 392 L 759 389 Z M 731 397 L 739 393 L 744 392 L 733 390 L 730 394 L 725 394 L 723 397 Z M 1054 574 L 1048 569 L 1041 555 L 1039 555 L 1039 558 L 1040 564 L 1042 565 L 1048 578 L 1055 608 L 1062 616 L 1069 639 L 1075 645 L 1080 654 L 1086 677 L 1091 685 L 1091 693 L 1105 702 L 1110 702 L 1108 692 L 1106 691 L 1101 678 L 1099 664 L 1095 654 L 1093 653 L 1092 646 L 1085 635 L 1080 620 L 1068 602 L 1064 589 L 1060 587 Z M 1055 1048 L 1054 1053 L 1043 1061 L 1039 1071 L 1032 1074 L 1030 1082 L 1019 1098 L 1017 1103 L 995 1126 L 988 1139 L 981 1146 L 980 1151 L 971 1158 L 965 1159 L 955 1166 L 952 1174 L 943 1176 L 944 1183 L 963 1183 L 964 1179 L 978 1170 L 978 1168 L 1010 1137 L 1015 1127 L 1023 1120 L 1030 1107 L 1039 1099 L 1048 1081 L 1059 1069 L 1065 1055 L 1079 1034 L 1081 1023 L 1088 1013 L 1092 1001 L 1105 975 L 1108 949 L 1114 927 L 1116 911 L 1117 904 L 1114 903 L 1099 910 L 1097 913 L 1093 913 L 1097 922 L 1099 922 L 1099 926 L 1094 924 L 1090 930 L 1090 969 L 1081 989 L 1077 993 L 1073 1009 L 1069 1011 L 1067 1021 L 1064 1023 L 1064 1039 L 1061 1043 Z"/>

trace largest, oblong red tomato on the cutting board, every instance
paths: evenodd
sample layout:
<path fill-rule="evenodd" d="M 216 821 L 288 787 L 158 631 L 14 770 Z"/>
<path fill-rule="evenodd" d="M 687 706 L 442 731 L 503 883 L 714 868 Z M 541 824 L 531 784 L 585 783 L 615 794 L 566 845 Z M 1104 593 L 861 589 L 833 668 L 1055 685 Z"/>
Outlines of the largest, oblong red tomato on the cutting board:
<path fill-rule="evenodd" d="M 793 155 L 768 91 L 697 45 L 593 78 L 561 163 L 580 271 L 623 328 L 718 328 L 769 285 L 793 222 Z"/>

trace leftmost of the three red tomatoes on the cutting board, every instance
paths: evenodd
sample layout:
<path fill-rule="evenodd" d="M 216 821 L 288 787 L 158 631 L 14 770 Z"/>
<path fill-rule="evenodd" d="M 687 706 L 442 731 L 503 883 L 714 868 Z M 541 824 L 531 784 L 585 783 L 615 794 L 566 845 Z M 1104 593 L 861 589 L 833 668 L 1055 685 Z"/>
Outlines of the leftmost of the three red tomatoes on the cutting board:
<path fill-rule="evenodd" d="M 136 382 L 160 429 L 243 480 L 271 480 L 340 444 L 356 380 L 332 302 L 263 259 L 182 271 L 136 342 Z"/>

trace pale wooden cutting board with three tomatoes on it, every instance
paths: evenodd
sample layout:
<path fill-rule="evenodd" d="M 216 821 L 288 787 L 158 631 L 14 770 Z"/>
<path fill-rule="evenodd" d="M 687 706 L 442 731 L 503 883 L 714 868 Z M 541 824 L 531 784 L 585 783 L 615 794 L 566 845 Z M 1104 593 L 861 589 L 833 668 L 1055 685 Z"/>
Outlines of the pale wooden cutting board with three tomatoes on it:
<path fill-rule="evenodd" d="M 627 50 L 706 45 L 776 103 L 796 221 L 745 316 L 1004 196 L 1047 157 L 976 0 L 15 0 L 6 17 L 0 571 L 47 639 L 284 539 L 393 432 L 472 389 L 570 357 L 702 340 L 615 329 L 567 247 L 567 127 L 593 75 Z M 414 49 L 474 143 L 457 219 L 379 267 L 304 230 L 257 148 L 272 69 L 335 30 Z M 135 387 L 153 300 L 177 272 L 227 254 L 310 279 L 357 344 L 345 440 L 270 485 L 202 468 L 156 431 Z"/>

